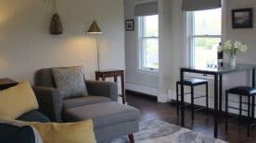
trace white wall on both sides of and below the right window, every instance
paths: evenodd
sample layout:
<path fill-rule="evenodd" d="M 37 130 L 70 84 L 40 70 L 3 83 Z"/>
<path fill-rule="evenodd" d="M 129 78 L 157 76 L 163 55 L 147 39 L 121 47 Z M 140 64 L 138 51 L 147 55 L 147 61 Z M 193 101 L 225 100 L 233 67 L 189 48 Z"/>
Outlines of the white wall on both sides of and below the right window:
<path fill-rule="evenodd" d="M 186 15 L 181 10 L 180 0 L 160 0 L 160 90 L 159 101 L 166 102 L 175 99 L 175 82 L 179 80 L 179 68 L 186 66 Z M 226 0 L 224 5 L 224 40 L 233 39 L 250 45 L 251 49 L 246 54 L 239 54 L 237 62 L 256 64 L 256 37 L 255 28 L 248 30 L 233 30 L 231 24 L 231 9 L 253 7 L 256 9 L 254 0 Z M 254 15 L 255 26 L 255 15 Z M 228 57 L 225 56 L 228 62 Z M 210 82 L 210 104 L 213 107 L 213 80 Z M 241 72 L 224 77 L 224 89 L 229 89 L 238 85 L 250 85 L 251 74 Z M 171 92 L 168 90 L 171 89 Z M 199 94 L 204 90 L 197 89 Z M 190 101 L 190 99 L 186 99 Z M 224 100 L 223 100 L 224 101 Z M 232 101 L 237 101 L 233 98 Z M 204 100 L 196 101 L 197 104 L 204 105 Z M 224 105 L 224 104 L 223 104 Z M 236 103 L 235 103 L 236 106 Z"/>

